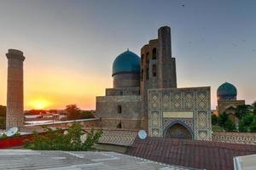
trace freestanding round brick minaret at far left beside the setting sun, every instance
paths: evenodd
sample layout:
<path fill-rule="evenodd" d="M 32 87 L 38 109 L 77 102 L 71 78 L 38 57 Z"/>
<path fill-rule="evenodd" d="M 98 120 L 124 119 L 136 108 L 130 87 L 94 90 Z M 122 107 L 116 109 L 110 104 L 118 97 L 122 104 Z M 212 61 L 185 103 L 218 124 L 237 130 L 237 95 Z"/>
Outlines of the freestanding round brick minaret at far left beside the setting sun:
<path fill-rule="evenodd" d="M 6 129 L 23 126 L 23 61 L 20 50 L 9 49 L 7 83 Z"/>

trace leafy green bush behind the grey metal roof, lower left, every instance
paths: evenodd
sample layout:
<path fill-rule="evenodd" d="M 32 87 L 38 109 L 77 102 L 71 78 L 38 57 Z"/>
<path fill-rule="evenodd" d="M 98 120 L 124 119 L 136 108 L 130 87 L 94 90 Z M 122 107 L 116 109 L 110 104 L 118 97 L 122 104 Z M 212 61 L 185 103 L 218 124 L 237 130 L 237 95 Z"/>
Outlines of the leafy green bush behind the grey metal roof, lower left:
<path fill-rule="evenodd" d="M 26 142 L 26 148 L 32 150 L 93 150 L 94 144 L 102 136 L 102 130 L 84 132 L 79 123 L 73 123 L 67 129 L 67 134 L 63 134 L 60 128 L 52 130 L 44 127 L 45 135 L 34 133 L 34 139 Z M 86 139 L 81 140 L 81 136 L 86 134 Z"/>

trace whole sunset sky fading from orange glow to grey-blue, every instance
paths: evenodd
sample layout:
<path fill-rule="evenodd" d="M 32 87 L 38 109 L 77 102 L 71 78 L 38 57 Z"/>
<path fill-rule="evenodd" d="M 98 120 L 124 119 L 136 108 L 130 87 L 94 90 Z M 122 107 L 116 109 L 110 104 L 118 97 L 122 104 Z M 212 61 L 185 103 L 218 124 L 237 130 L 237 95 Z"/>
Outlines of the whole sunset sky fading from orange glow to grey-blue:
<path fill-rule="evenodd" d="M 184 5 L 184 6 L 183 6 Z M 256 100 L 256 1 L 0 0 L 0 105 L 9 48 L 24 52 L 25 109 L 95 109 L 112 88 L 113 59 L 172 27 L 179 88 L 224 82 Z"/>

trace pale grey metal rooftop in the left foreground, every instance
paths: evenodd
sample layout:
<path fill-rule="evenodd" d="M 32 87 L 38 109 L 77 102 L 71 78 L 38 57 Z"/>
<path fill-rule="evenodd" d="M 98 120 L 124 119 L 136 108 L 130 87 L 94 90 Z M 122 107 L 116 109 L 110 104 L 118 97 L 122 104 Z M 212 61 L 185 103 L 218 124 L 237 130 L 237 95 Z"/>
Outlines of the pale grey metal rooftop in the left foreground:
<path fill-rule="evenodd" d="M 116 152 L 59 151 L 59 150 L 0 150 L 0 169 L 159 169 L 184 170 L 186 167 L 170 166 Z"/>

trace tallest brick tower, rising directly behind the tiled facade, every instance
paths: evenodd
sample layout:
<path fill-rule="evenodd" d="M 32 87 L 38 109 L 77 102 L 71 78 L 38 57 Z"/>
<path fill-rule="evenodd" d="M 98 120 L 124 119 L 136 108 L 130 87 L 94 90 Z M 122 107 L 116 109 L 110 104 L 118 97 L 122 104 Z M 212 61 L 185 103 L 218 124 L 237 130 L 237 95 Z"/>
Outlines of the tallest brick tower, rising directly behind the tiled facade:
<path fill-rule="evenodd" d="M 158 30 L 158 88 L 177 88 L 176 61 L 172 57 L 171 28 Z"/>

